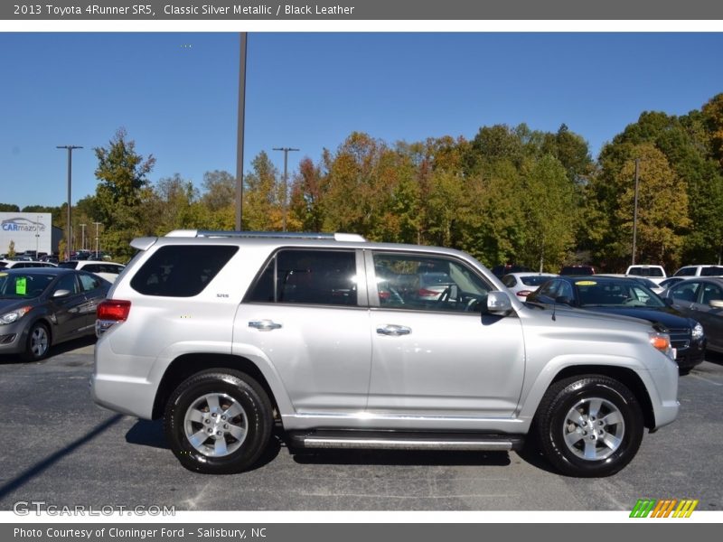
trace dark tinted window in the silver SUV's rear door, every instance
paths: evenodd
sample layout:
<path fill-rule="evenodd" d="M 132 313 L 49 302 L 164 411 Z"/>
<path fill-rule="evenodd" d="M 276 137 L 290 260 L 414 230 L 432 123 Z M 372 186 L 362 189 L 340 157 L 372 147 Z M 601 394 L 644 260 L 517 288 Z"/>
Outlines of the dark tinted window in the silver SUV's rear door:
<path fill-rule="evenodd" d="M 245 301 L 355 306 L 356 254 L 348 250 L 280 250 Z"/>

